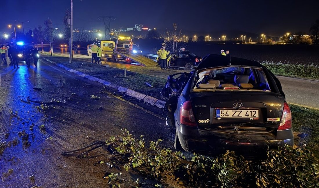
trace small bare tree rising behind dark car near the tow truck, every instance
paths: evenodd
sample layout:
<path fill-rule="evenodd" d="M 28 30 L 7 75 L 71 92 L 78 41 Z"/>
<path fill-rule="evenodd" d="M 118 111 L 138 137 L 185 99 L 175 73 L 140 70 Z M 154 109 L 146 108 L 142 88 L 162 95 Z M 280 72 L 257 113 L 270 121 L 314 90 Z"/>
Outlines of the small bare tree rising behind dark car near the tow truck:
<path fill-rule="evenodd" d="M 168 31 L 166 28 L 165 35 L 161 35 L 164 38 L 164 44 L 171 52 L 177 52 L 180 48 L 185 46 L 185 42 L 179 40 L 182 35 L 182 30 L 177 31 L 177 24 L 173 24 L 174 30 Z"/>

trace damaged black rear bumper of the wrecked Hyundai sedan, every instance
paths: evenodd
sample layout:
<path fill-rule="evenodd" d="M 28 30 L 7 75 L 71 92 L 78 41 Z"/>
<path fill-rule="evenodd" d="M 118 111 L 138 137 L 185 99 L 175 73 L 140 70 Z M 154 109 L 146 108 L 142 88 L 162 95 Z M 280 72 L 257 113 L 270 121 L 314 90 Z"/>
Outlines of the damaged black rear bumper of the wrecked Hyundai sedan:
<path fill-rule="evenodd" d="M 278 148 L 286 144 L 293 146 L 292 129 L 277 131 L 275 137 L 263 135 L 234 136 L 222 134 L 204 135 L 199 129 L 188 126 L 177 126 L 177 134 L 186 151 L 199 153 L 223 153 L 226 150 L 235 151 L 243 156 L 256 156 L 263 154 L 267 148 Z M 273 139 L 271 139 L 273 138 Z"/>

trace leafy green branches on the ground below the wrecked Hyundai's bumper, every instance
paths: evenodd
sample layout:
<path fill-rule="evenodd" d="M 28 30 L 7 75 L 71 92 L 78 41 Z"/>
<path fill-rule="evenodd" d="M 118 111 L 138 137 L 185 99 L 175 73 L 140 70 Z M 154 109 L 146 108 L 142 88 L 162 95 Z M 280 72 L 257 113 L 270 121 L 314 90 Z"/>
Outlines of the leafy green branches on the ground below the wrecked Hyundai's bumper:
<path fill-rule="evenodd" d="M 318 187 L 319 164 L 305 148 L 286 146 L 268 150 L 267 159 L 250 161 L 227 151 L 220 157 L 194 153 L 187 160 L 179 151 L 163 148 L 161 140 L 145 147 L 143 136 L 127 130 L 106 141 L 112 160 L 158 180 L 164 186 L 185 187 Z"/>

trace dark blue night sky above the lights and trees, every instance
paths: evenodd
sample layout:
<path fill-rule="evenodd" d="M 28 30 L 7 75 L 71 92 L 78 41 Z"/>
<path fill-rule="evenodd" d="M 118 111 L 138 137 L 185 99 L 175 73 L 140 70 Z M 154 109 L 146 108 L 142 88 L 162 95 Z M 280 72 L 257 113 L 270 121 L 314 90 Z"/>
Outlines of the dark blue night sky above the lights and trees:
<path fill-rule="evenodd" d="M 111 27 L 116 29 L 134 24 L 164 29 L 176 22 L 185 33 L 236 30 L 280 36 L 285 32 L 308 32 L 311 23 L 319 19 L 318 7 L 318 0 L 73 0 L 73 28 L 103 29 L 97 17 L 111 15 L 116 17 Z M 47 18 L 62 29 L 67 8 L 70 0 L 4 0 L 0 5 L 0 34 L 7 32 L 7 24 L 15 20 L 29 20 L 26 31 L 43 25 Z"/>

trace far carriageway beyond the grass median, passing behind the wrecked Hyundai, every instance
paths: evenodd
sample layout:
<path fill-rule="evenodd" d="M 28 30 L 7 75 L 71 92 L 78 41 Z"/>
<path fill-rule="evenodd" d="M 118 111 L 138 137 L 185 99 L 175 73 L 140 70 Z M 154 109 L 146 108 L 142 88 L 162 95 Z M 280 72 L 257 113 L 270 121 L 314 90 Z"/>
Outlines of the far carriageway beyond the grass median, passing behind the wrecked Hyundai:
<path fill-rule="evenodd" d="M 47 50 L 46 48 L 44 48 Z M 68 48 L 55 48 L 54 52 L 67 55 L 69 57 Z M 91 57 L 87 56 L 86 50 L 77 50 L 77 55 L 74 57 L 78 59 L 91 61 Z M 78 55 L 82 54 L 82 55 Z M 125 63 L 113 63 L 106 61 L 105 58 L 102 58 L 102 64 L 112 66 L 115 68 L 123 69 L 124 67 L 127 70 L 148 74 L 152 76 L 157 76 L 161 78 L 167 78 L 168 75 L 174 74 L 176 72 L 189 72 L 189 70 L 160 70 L 158 67 L 141 67 L 135 65 L 129 65 Z M 286 100 L 289 103 L 302 105 L 305 107 L 317 108 L 319 109 L 319 81 L 318 80 L 307 80 L 299 78 L 291 78 L 285 76 L 277 76 L 279 79 L 283 91 L 286 94 Z"/>

